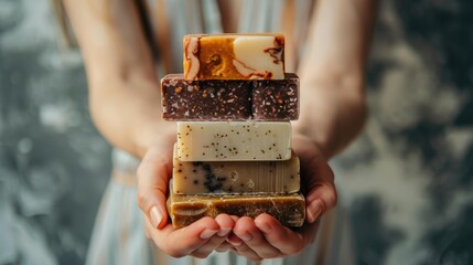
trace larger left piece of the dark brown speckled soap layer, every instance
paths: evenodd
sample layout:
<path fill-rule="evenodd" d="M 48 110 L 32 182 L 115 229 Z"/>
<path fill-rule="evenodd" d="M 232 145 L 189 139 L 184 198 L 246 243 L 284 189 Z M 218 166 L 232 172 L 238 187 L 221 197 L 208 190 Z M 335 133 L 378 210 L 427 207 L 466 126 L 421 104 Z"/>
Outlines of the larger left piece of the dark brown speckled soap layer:
<path fill-rule="evenodd" d="M 245 120 L 251 117 L 248 81 L 186 81 L 182 74 L 161 80 L 162 116 L 166 120 Z"/>

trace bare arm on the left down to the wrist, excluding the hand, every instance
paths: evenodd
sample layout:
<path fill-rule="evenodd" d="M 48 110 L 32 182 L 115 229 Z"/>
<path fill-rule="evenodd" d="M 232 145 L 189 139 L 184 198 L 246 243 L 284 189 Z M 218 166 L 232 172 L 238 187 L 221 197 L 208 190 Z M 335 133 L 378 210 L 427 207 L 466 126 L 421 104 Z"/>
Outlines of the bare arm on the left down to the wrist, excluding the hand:
<path fill-rule="evenodd" d="M 114 146 L 142 156 L 163 123 L 152 57 L 135 4 L 64 3 L 84 55 L 95 125 Z"/>

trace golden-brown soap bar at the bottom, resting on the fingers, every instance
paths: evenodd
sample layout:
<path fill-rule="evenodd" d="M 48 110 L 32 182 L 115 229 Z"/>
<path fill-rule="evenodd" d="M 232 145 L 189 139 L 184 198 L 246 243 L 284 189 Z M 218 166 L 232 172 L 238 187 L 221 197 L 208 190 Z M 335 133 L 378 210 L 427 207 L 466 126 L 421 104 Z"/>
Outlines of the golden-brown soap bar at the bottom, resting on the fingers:
<path fill-rule="evenodd" d="M 175 229 L 190 225 L 204 216 L 219 213 L 256 218 L 270 214 L 286 226 L 301 226 L 305 219 L 305 201 L 301 193 L 284 195 L 178 195 L 171 193 L 168 211 Z"/>

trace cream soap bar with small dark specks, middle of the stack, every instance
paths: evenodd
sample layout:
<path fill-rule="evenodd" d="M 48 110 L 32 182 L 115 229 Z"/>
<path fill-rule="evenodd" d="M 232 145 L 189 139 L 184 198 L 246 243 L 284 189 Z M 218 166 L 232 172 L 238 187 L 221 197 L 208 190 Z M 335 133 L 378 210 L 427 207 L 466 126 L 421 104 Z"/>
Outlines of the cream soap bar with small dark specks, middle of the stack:
<path fill-rule="evenodd" d="M 288 160 L 289 121 L 178 121 L 181 161 Z"/>

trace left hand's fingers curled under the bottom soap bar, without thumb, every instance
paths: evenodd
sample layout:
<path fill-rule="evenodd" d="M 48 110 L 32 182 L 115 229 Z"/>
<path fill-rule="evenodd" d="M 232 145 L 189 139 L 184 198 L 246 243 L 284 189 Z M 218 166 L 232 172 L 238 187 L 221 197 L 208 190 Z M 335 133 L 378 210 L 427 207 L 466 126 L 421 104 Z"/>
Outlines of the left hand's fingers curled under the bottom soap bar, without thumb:
<path fill-rule="evenodd" d="M 146 225 L 157 246 L 173 257 L 183 257 L 207 243 L 219 231 L 211 218 L 203 218 L 189 226 L 175 230 L 171 224 L 161 230 L 153 229 L 149 220 Z"/>

